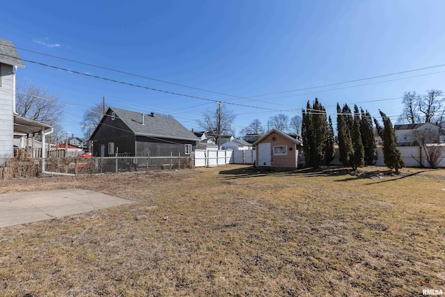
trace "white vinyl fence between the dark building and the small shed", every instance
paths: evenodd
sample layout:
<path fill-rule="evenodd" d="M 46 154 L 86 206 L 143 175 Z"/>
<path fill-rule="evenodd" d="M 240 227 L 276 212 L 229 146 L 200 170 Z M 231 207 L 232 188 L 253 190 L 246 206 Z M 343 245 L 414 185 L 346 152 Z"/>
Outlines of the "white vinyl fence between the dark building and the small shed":
<path fill-rule="evenodd" d="M 195 150 L 195 167 L 253 164 L 254 150 Z"/>

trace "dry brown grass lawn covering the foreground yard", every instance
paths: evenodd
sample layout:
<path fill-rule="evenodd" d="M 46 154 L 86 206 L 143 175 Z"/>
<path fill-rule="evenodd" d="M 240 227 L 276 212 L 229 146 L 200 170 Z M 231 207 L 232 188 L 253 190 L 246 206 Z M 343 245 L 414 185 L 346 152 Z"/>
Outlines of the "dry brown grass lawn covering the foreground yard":
<path fill-rule="evenodd" d="M 445 171 L 364 170 L 224 166 L 19 188 L 88 188 L 138 203 L 1 229 L 0 295 L 445 291 Z"/>

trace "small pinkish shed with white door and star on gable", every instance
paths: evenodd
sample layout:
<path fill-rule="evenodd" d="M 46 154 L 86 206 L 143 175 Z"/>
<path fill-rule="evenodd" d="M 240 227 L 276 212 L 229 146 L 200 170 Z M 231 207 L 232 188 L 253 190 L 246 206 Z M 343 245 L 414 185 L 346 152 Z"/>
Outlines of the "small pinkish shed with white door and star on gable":
<path fill-rule="evenodd" d="M 256 166 L 298 168 L 302 165 L 302 141 L 277 129 L 268 131 L 253 146 L 257 154 Z"/>

